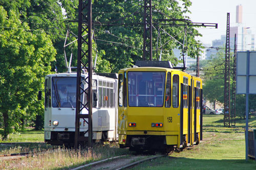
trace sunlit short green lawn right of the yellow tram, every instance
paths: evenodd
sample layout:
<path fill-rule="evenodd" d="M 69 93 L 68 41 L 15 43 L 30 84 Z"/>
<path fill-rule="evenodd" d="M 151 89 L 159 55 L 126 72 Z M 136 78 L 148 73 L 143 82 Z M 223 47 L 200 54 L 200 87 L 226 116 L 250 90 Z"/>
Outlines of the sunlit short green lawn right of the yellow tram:
<path fill-rule="evenodd" d="M 254 160 L 245 161 L 245 120 L 237 120 L 233 128 L 223 125 L 223 115 L 204 115 L 203 142 L 134 169 L 256 169 Z M 256 128 L 255 117 L 249 119 L 249 128 Z"/>

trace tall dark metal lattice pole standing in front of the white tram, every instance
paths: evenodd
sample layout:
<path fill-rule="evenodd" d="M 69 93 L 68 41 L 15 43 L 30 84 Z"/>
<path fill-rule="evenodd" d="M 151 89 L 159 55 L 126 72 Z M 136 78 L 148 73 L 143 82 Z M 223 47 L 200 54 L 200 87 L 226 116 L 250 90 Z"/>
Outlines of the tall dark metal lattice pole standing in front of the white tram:
<path fill-rule="evenodd" d="M 83 34 L 87 35 L 82 37 Z M 79 0 L 77 43 L 75 149 L 78 148 L 79 142 L 87 140 L 89 147 L 92 147 L 92 0 Z M 82 49 L 83 43 L 86 43 L 88 50 Z M 88 71 L 88 77 L 81 77 L 82 70 Z M 87 94 L 87 103 L 83 103 L 82 96 L 86 96 L 84 94 Z M 84 108 L 88 110 L 88 114 L 81 114 Z M 84 137 L 84 133 L 80 133 L 80 119 L 88 123 L 88 138 Z"/>

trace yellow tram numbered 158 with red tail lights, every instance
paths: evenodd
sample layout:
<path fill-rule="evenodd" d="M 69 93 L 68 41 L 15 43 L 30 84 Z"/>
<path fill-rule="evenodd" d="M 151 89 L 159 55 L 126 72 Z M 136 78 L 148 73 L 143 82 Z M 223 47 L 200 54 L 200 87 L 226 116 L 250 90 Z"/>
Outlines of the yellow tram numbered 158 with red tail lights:
<path fill-rule="evenodd" d="M 202 80 L 164 63 L 118 72 L 120 148 L 170 151 L 202 140 Z"/>

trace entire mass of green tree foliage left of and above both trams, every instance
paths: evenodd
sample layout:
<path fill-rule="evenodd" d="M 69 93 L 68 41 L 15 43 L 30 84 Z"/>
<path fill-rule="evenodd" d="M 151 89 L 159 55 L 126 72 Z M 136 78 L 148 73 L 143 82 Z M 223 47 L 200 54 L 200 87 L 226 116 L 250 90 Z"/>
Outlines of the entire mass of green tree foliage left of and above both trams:
<path fill-rule="evenodd" d="M 153 23 L 157 19 L 189 19 L 186 16 L 191 6 L 189 0 L 152 3 Z M 63 44 L 67 29 L 77 35 L 77 22 L 68 20 L 77 20 L 78 1 L 0 0 L 0 6 L 0 112 L 5 127 L 1 134 L 7 137 L 10 132 L 22 129 L 25 119 L 41 127 L 37 118 L 43 116 L 44 105 L 37 101 L 36 94 L 44 88 L 43 78 L 55 66 L 59 72 L 66 71 Z M 117 72 L 142 60 L 143 26 L 138 24 L 143 22 L 142 1 L 95 0 L 92 15 L 95 37 L 92 56 L 93 62 L 97 56 L 96 72 Z M 105 23 L 126 25 L 103 25 Z M 184 27 L 159 25 L 159 28 L 183 42 Z M 160 55 L 160 50 L 155 49 L 156 29 L 153 29 L 153 60 Z M 187 28 L 187 32 L 188 55 L 195 57 L 202 47 L 195 40 L 199 33 L 194 28 Z M 74 34 L 69 42 L 77 38 Z M 177 41 L 161 32 L 161 42 L 168 42 L 163 45 L 162 60 L 172 61 L 174 65 L 182 62 L 172 51 L 182 48 Z M 84 43 L 82 49 L 86 51 L 88 46 Z M 71 66 L 76 66 L 77 43 L 66 47 L 66 53 L 67 56 L 73 54 Z"/>

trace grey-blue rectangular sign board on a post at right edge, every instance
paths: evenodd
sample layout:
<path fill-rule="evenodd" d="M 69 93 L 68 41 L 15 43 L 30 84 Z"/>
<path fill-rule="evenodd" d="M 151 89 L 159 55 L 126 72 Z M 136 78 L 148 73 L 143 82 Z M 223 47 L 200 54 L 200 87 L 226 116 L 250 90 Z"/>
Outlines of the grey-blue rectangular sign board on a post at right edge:
<path fill-rule="evenodd" d="M 256 52 L 237 53 L 237 94 L 256 94 L 255 65 Z"/>

